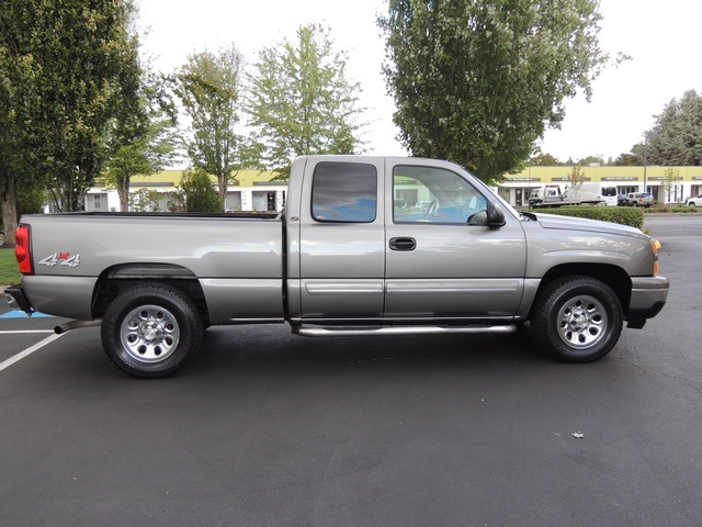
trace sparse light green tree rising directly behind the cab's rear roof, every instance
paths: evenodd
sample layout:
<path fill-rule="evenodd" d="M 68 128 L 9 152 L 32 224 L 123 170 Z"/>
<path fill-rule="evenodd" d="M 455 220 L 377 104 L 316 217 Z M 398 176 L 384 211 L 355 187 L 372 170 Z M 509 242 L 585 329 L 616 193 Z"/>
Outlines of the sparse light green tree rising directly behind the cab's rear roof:
<path fill-rule="evenodd" d="M 297 29 L 259 53 L 248 111 L 269 168 L 290 175 L 292 159 L 308 154 L 354 154 L 363 142 L 360 85 L 346 75 L 347 55 L 333 51 L 329 30 Z"/>

